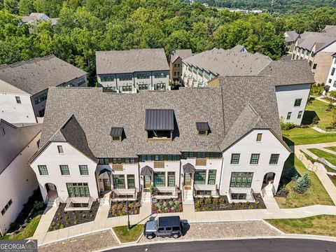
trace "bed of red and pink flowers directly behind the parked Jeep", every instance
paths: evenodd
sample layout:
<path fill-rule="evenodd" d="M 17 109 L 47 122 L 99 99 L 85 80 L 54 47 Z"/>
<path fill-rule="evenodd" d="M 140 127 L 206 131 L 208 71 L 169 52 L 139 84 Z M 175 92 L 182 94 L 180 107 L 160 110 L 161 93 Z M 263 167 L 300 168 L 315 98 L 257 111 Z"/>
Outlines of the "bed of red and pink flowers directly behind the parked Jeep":
<path fill-rule="evenodd" d="M 158 200 L 154 197 L 152 199 L 151 207 L 152 214 L 180 213 L 183 211 L 182 198 Z"/>

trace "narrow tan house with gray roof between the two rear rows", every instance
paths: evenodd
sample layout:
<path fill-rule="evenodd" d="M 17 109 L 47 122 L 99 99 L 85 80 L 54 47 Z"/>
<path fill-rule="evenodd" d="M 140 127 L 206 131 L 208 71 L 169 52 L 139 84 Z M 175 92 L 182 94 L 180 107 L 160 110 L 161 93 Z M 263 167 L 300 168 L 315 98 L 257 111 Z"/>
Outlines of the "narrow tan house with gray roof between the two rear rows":
<path fill-rule="evenodd" d="M 172 50 L 169 53 L 169 76 L 170 80 L 175 83 L 181 82 L 182 76 L 182 60 L 193 56 L 191 49 Z"/>

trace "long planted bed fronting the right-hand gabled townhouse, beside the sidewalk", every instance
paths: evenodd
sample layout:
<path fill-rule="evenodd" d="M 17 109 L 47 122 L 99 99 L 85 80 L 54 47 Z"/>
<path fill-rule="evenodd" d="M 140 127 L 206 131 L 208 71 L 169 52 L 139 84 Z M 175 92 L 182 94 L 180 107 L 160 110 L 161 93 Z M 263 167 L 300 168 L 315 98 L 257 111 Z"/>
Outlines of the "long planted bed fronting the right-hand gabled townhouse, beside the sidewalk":
<path fill-rule="evenodd" d="M 200 197 L 195 198 L 195 211 L 225 211 L 243 209 L 265 209 L 265 203 L 260 194 L 253 195 L 255 202 L 229 203 L 228 197 Z"/>

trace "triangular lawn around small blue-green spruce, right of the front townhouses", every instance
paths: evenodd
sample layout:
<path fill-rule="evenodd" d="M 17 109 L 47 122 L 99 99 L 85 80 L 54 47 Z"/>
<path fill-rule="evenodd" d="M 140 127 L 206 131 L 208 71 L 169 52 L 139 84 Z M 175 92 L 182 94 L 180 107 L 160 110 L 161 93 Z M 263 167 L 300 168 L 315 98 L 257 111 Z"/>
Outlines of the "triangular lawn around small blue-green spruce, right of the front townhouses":
<path fill-rule="evenodd" d="M 295 160 L 294 160 L 295 158 Z M 284 188 L 289 190 L 289 193 L 286 198 L 275 197 L 276 202 L 279 204 L 280 208 L 296 208 L 296 207 L 307 207 L 314 204 L 325 204 L 333 205 L 332 200 L 330 199 L 328 193 L 323 187 L 321 181 L 318 179 L 318 176 L 314 172 L 307 170 L 302 162 L 298 160 L 293 154 L 290 155 L 288 160 L 286 160 L 283 167 L 283 175 L 286 176 L 290 167 L 295 166 L 297 172 L 302 176 L 305 172 L 308 173 L 309 179 L 311 180 L 311 186 L 308 188 L 306 193 L 300 194 L 295 193 L 293 187 L 295 186 L 296 181 L 286 182 Z M 281 178 L 282 179 L 282 178 Z"/>

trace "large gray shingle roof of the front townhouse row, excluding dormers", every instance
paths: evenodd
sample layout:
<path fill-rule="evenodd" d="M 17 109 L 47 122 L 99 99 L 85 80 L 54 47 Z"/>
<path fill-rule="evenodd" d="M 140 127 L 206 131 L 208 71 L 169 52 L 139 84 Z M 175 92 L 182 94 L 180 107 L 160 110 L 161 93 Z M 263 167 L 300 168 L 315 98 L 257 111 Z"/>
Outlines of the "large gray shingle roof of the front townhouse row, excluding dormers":
<path fill-rule="evenodd" d="M 50 87 L 41 144 L 55 140 L 52 136 L 62 127 L 62 122 L 74 115 L 85 132 L 88 148 L 97 158 L 180 154 L 183 151 L 219 152 L 221 145 L 230 146 L 239 139 L 239 130 L 238 133 L 230 131 L 230 127 L 247 104 L 253 106 L 265 125 L 281 138 L 274 86 L 265 80 L 266 77 L 220 79 L 225 79 L 222 88 L 185 87 L 179 91 L 141 91 L 138 94 L 115 94 L 103 92 L 102 88 Z M 146 141 L 144 126 L 148 108 L 174 110 L 173 141 Z M 197 135 L 196 122 L 208 122 L 211 134 L 207 137 Z M 110 141 L 111 125 L 123 125 L 126 137 L 122 142 Z M 226 139 L 225 144 L 223 139 Z"/>

